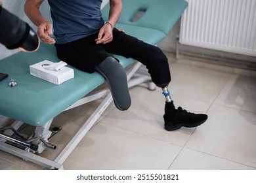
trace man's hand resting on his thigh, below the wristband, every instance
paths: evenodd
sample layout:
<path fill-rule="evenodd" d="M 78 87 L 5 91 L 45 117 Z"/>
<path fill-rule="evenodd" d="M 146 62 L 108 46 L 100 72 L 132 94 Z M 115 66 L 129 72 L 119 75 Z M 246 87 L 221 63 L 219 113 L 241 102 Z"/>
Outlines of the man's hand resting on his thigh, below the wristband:
<path fill-rule="evenodd" d="M 98 33 L 98 39 L 95 39 L 96 44 L 107 44 L 113 40 L 113 27 L 111 24 L 105 24 L 101 27 Z"/>

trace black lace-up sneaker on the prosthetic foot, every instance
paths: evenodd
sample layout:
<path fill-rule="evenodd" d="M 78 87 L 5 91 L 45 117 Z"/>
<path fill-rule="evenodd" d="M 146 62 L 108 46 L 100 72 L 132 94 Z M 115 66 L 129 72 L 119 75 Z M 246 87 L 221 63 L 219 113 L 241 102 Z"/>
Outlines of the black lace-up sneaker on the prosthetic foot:
<path fill-rule="evenodd" d="M 206 114 L 194 114 L 181 107 L 175 109 L 173 102 L 165 103 L 165 114 L 163 119 L 165 121 L 165 129 L 173 131 L 181 127 L 197 127 L 207 120 Z"/>

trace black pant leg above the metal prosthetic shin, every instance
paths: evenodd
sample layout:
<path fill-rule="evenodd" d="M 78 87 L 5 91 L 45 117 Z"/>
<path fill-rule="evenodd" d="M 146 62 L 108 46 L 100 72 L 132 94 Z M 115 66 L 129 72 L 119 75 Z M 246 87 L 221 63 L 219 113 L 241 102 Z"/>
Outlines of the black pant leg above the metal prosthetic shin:
<path fill-rule="evenodd" d="M 168 59 L 160 48 L 114 29 L 113 41 L 104 45 L 107 52 L 133 58 L 146 65 L 152 81 L 162 87 L 171 82 Z"/>

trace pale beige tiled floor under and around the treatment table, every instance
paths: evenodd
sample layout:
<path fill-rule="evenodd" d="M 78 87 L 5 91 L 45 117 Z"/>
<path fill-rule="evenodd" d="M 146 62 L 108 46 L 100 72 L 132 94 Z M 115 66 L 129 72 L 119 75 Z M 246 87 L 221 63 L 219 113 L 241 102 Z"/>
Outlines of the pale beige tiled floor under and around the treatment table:
<path fill-rule="evenodd" d="M 256 73 L 189 59 L 170 65 L 175 105 L 207 113 L 205 124 L 165 131 L 161 90 L 131 88 L 131 108 L 120 112 L 110 105 L 64 169 L 256 169 Z M 63 128 L 51 139 L 58 149 L 99 102 L 54 119 Z M 54 158 L 56 152 L 45 150 L 42 156 Z M 42 167 L 0 151 L 0 169 Z"/>

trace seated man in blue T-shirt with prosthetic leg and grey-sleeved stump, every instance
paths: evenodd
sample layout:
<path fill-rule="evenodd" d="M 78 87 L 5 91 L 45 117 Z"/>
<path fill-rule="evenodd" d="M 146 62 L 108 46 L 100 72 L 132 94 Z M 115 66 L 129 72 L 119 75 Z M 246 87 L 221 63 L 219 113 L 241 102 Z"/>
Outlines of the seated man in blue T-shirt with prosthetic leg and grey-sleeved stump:
<path fill-rule="evenodd" d="M 44 0 L 27 0 L 24 10 L 37 25 L 37 35 L 47 44 L 55 44 L 58 58 L 88 73 L 98 72 L 106 78 L 114 104 L 127 110 L 131 98 L 125 70 L 113 54 L 133 58 L 146 65 L 148 73 L 165 96 L 165 129 L 196 127 L 207 120 L 206 114 L 194 114 L 175 108 L 167 86 L 171 74 L 167 57 L 160 48 L 140 41 L 116 29 L 121 14 L 121 0 L 110 0 L 107 22 L 101 16 L 102 0 L 48 0 L 53 24 L 43 18 L 39 7 Z M 54 29 L 54 39 L 51 37 Z"/>

